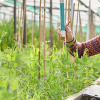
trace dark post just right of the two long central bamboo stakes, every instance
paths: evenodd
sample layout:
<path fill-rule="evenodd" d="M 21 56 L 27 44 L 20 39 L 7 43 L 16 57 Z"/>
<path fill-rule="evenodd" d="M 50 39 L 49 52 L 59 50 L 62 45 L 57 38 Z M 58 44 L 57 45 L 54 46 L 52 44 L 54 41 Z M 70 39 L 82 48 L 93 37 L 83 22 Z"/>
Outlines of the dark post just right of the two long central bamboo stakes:
<path fill-rule="evenodd" d="M 52 0 L 50 0 L 50 47 L 53 47 L 53 27 L 52 27 Z"/>

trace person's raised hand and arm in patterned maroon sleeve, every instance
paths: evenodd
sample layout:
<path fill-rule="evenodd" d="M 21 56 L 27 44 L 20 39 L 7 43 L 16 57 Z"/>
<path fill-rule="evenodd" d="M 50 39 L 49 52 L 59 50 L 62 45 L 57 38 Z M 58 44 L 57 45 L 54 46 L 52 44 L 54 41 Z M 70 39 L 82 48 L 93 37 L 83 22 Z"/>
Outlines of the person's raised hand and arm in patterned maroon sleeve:
<path fill-rule="evenodd" d="M 58 23 L 58 27 L 60 27 L 60 23 Z M 76 52 L 78 48 L 78 57 L 81 58 L 84 54 L 85 49 L 88 49 L 87 55 L 88 57 L 99 54 L 100 53 L 100 35 L 86 42 L 77 42 L 73 37 L 71 29 L 68 25 L 65 25 L 66 32 L 66 44 L 70 49 L 70 53 L 73 55 L 73 52 Z M 61 29 L 57 29 L 58 36 L 61 40 L 65 41 L 65 38 L 61 35 Z"/>

